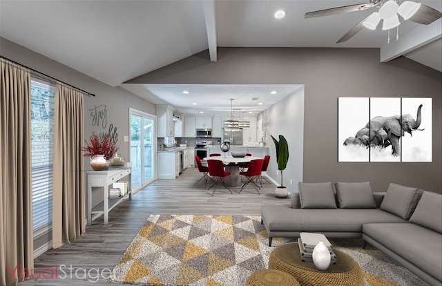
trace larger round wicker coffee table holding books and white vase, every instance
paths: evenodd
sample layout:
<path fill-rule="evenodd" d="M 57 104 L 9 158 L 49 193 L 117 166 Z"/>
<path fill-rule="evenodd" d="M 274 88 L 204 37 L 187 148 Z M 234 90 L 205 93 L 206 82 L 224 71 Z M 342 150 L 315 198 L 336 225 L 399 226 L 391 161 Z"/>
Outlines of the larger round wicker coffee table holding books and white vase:
<path fill-rule="evenodd" d="M 300 285 L 364 285 L 363 271 L 351 256 L 333 249 L 336 264 L 327 271 L 316 269 L 313 263 L 302 262 L 298 243 L 287 243 L 273 249 L 269 269 L 277 269 L 294 276 Z"/>

